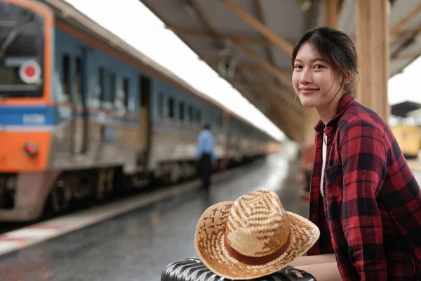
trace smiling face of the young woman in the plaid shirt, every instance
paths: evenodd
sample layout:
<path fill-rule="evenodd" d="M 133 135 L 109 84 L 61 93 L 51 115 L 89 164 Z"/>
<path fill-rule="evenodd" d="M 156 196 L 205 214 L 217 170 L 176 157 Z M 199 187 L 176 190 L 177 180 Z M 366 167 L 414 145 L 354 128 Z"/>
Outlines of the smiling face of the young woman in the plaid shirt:
<path fill-rule="evenodd" d="M 293 86 L 295 93 L 305 107 L 323 109 L 331 100 L 342 96 L 338 93 L 340 79 L 330 65 L 314 53 L 312 45 L 306 42 L 298 50 L 294 62 Z"/>

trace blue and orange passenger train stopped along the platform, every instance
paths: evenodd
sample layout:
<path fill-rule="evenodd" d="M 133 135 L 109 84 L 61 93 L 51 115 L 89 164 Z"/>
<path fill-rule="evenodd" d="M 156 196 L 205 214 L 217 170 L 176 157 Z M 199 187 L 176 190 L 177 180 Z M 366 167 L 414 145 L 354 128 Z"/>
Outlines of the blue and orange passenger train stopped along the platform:
<path fill-rule="evenodd" d="M 0 0 L 0 221 L 195 178 L 205 122 L 215 171 L 280 149 L 65 1 Z"/>

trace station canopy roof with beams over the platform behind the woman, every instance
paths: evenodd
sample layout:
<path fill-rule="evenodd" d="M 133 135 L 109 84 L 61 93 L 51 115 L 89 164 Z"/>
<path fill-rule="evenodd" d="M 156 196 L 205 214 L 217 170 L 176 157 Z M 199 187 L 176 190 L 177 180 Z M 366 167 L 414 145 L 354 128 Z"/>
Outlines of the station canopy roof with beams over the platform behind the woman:
<path fill-rule="evenodd" d="M 302 34 L 323 25 L 323 0 L 140 1 L 288 138 L 300 141 L 305 110 L 290 83 L 290 57 Z M 338 6 L 338 28 L 354 38 L 355 1 Z M 421 2 L 391 3 L 390 77 L 421 55 Z"/>

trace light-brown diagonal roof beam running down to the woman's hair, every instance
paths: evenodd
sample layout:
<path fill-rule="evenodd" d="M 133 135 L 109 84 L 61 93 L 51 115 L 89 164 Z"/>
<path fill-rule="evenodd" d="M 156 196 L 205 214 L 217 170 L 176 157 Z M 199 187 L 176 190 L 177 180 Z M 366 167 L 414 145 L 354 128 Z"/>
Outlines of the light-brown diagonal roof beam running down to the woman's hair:
<path fill-rule="evenodd" d="M 235 4 L 234 1 L 220 0 L 220 2 L 224 4 L 225 6 L 227 6 L 227 8 L 233 11 L 240 18 L 248 22 L 249 25 L 254 27 L 263 35 L 265 35 L 265 37 L 267 37 L 267 39 L 272 41 L 276 46 L 279 46 L 283 51 L 286 51 L 288 55 L 292 55 L 293 49 L 294 49 L 293 44 L 290 44 L 290 42 L 279 37 L 279 35 L 273 32 L 272 30 L 269 30 L 269 28 L 267 28 L 262 22 L 260 22 L 259 20 L 256 20 L 253 17 L 253 15 L 250 15 L 249 13 L 244 11 L 242 8 L 240 8 L 240 6 Z"/>

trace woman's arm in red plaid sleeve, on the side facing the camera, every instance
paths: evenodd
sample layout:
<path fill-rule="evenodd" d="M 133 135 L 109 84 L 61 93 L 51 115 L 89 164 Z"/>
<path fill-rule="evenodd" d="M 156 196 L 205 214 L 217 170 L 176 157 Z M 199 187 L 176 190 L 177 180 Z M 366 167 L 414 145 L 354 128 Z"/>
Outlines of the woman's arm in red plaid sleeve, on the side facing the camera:
<path fill-rule="evenodd" d="M 387 280 L 382 220 L 376 202 L 387 173 L 383 134 L 363 120 L 342 130 L 342 202 L 332 208 L 342 218 L 340 227 L 345 235 L 348 259 L 360 279 Z M 342 246 L 345 245 L 338 245 Z"/>

